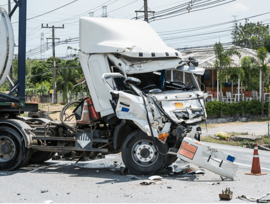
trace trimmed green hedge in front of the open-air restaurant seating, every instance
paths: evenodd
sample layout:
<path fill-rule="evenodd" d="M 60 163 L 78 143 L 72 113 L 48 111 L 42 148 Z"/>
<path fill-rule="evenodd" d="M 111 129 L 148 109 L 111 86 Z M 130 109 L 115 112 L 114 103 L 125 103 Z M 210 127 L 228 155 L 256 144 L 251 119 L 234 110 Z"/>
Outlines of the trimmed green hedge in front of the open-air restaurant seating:
<path fill-rule="evenodd" d="M 222 101 L 209 101 L 206 103 L 207 117 L 221 118 L 222 114 L 227 117 L 260 115 L 262 103 L 259 100 L 240 101 L 225 103 Z M 264 114 L 268 113 L 268 101 L 264 103 Z"/>

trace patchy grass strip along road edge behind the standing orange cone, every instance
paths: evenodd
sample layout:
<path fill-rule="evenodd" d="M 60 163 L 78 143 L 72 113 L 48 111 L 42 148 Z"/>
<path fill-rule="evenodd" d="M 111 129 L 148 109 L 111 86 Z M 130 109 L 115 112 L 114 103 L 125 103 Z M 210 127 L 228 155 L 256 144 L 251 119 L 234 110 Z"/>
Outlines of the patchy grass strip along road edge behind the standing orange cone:
<path fill-rule="evenodd" d="M 217 143 L 217 144 L 225 144 L 225 145 L 231 145 L 231 146 L 250 146 L 254 147 L 254 144 L 259 144 L 259 145 L 270 145 L 270 137 L 267 137 L 266 135 L 261 135 L 262 139 L 259 140 L 241 140 L 241 141 L 233 141 L 231 140 L 231 136 L 236 136 L 236 135 L 248 135 L 247 132 L 242 132 L 242 133 L 235 133 L 235 132 L 230 132 L 228 133 L 228 139 L 229 141 L 226 141 L 224 139 L 215 139 L 214 137 L 211 136 L 206 136 L 201 139 L 202 142 L 211 142 L 211 143 Z"/>

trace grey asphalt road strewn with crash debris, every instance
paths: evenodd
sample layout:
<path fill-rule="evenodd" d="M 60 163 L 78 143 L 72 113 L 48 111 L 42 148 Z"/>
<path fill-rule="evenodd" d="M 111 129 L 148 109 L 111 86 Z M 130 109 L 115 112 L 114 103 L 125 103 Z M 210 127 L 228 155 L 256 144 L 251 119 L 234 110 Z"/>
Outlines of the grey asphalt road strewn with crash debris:
<path fill-rule="evenodd" d="M 141 182 L 150 180 L 130 173 L 120 175 L 119 166 L 114 166 L 114 162 L 122 163 L 119 154 L 78 164 L 50 160 L 0 172 L 0 203 L 43 203 L 47 198 L 53 203 L 247 203 L 236 197 L 260 197 L 270 191 L 270 152 L 259 150 L 261 169 L 267 175 L 245 175 L 251 171 L 252 149 L 208 144 L 237 157 L 238 178 L 222 181 L 219 175 L 208 170 L 204 175 L 171 175 L 171 170 L 164 169 L 158 173 L 160 176 L 169 175 L 162 176 L 159 182 L 163 184 L 141 186 Z M 180 160 L 176 163 L 175 171 L 188 165 Z M 198 168 L 194 164 L 190 166 Z M 138 179 L 131 179 L 133 177 Z M 206 185 L 206 182 L 220 182 L 220 185 Z M 218 194 L 226 187 L 233 191 L 231 201 L 219 198 Z M 41 193 L 41 190 L 48 192 Z"/>

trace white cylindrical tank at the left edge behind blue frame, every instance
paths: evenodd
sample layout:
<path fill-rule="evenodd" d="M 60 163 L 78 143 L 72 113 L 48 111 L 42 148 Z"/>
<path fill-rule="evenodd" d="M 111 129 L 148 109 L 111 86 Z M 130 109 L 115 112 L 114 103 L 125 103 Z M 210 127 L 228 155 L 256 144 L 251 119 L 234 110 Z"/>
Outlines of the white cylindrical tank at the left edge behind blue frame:
<path fill-rule="evenodd" d="M 0 86 L 4 83 L 14 54 L 14 33 L 6 10 L 0 5 Z"/>

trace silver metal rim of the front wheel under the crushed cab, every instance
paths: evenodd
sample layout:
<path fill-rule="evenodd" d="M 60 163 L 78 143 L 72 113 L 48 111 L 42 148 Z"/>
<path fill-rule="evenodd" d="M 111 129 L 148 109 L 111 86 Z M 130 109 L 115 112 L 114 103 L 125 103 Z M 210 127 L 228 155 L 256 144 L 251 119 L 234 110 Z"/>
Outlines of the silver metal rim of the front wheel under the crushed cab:
<path fill-rule="evenodd" d="M 140 140 L 132 148 L 133 160 L 139 166 L 151 166 L 157 161 L 158 152 L 150 140 Z"/>

